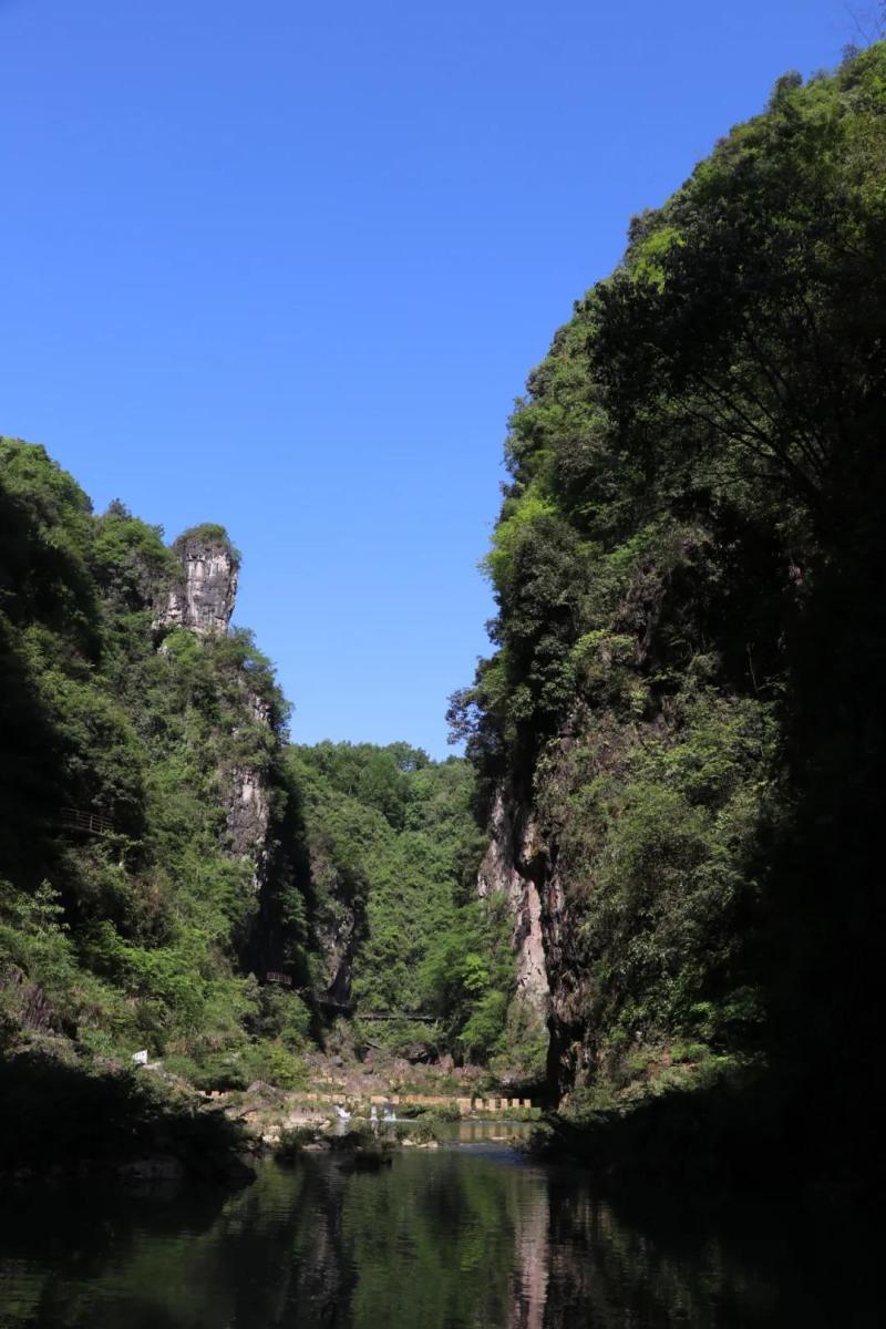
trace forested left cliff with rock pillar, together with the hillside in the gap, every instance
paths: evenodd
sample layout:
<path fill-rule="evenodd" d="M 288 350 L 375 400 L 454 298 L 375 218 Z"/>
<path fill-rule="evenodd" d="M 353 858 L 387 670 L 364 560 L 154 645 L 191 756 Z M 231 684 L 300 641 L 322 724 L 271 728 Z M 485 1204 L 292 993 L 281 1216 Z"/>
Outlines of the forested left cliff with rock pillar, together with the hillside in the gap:
<path fill-rule="evenodd" d="M 167 546 L 11 439 L 0 508 L 0 1050 L 145 1047 L 224 1088 L 306 1083 L 337 1019 L 359 1051 L 364 1011 L 392 1054 L 519 1042 L 507 924 L 474 898 L 470 767 L 290 744 L 231 626 L 223 528 Z"/>

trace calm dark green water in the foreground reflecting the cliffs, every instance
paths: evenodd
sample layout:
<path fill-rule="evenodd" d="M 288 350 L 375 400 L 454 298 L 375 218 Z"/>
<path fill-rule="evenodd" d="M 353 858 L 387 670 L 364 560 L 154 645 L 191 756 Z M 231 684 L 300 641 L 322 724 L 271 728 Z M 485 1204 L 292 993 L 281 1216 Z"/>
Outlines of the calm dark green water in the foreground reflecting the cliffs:
<path fill-rule="evenodd" d="M 826 1212 L 724 1227 L 660 1196 L 595 1196 L 465 1132 L 391 1170 L 325 1155 L 232 1196 L 16 1191 L 3 1329 L 874 1329 L 877 1261 Z M 873 1272 L 871 1272 L 873 1271 Z M 870 1282 L 867 1282 L 870 1280 Z M 870 1298 L 870 1300 L 869 1300 Z"/>

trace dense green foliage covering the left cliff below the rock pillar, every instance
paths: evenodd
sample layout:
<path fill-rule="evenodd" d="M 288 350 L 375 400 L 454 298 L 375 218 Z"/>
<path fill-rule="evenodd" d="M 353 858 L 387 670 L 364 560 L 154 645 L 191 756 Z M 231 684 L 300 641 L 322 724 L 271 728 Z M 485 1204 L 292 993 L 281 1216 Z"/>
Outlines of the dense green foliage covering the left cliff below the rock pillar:
<path fill-rule="evenodd" d="M 41 448 L 0 444 L 0 510 L 7 1037 L 24 1025 L 105 1057 L 145 1046 L 210 1079 L 224 1058 L 239 1078 L 268 1058 L 286 1071 L 250 977 L 271 962 L 306 974 L 310 940 L 268 662 L 242 630 L 158 629 L 175 550 L 118 502 L 93 516 Z M 194 534 L 236 558 L 221 528 Z M 238 771 L 271 804 L 260 884 L 231 844 Z M 102 833 L 84 831 L 90 815 Z M 302 1007 L 291 1046 L 307 1021 Z"/>

